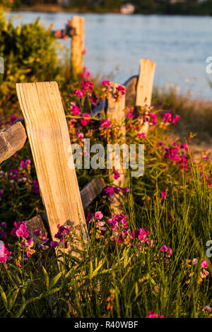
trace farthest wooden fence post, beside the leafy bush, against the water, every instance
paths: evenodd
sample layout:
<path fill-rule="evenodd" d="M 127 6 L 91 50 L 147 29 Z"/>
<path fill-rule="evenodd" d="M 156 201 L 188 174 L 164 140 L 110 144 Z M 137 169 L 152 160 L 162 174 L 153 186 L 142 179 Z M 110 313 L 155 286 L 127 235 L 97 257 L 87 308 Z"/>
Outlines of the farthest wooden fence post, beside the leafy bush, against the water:
<path fill-rule="evenodd" d="M 83 17 L 73 16 L 71 20 L 71 26 L 74 29 L 71 38 L 71 75 L 73 78 L 83 71 L 84 25 Z"/>

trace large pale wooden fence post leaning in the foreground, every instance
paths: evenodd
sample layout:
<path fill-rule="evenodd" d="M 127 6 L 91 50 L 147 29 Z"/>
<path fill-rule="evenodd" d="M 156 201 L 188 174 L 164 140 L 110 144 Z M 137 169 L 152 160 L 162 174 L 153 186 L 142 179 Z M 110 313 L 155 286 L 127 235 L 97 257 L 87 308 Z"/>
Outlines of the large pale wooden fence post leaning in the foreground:
<path fill-rule="evenodd" d="M 81 225 L 86 243 L 86 220 L 57 82 L 18 83 L 16 90 L 52 239 L 58 224 Z"/>

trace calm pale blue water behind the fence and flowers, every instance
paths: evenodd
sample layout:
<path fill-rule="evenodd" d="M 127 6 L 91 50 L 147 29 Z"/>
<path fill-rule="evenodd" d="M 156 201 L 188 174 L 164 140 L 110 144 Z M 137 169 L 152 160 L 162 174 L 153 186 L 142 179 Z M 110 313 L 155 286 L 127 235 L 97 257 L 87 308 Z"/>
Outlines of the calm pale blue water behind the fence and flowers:
<path fill-rule="evenodd" d="M 48 27 L 64 28 L 71 13 L 12 13 L 14 22 L 40 17 Z M 184 16 L 124 16 L 85 14 L 85 65 L 94 74 L 112 73 L 117 83 L 138 73 L 140 57 L 156 62 L 155 85 L 174 83 L 195 97 L 211 99 L 206 58 L 212 56 L 212 18 Z M 70 46 L 70 40 L 64 43 Z M 102 75 L 102 77 L 104 77 Z"/>

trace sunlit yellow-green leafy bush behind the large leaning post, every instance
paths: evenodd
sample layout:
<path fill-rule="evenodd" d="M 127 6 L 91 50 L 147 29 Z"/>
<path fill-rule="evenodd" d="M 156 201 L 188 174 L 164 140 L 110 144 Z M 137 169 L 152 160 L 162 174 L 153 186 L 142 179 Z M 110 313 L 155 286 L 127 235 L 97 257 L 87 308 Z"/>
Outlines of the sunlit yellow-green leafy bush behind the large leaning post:
<path fill-rule="evenodd" d="M 61 81 L 58 47 L 39 20 L 15 28 L 11 21 L 6 22 L 0 8 L 0 57 L 5 66 L 0 76 L 0 114 L 6 104 L 16 101 L 15 83 Z M 8 116 L 8 109 L 3 114 Z"/>

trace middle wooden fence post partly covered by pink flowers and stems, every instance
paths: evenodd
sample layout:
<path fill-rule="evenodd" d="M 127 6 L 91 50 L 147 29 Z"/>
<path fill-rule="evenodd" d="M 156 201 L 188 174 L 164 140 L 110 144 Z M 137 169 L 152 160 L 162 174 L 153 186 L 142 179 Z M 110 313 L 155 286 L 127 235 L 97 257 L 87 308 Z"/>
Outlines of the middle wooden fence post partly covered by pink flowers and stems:
<path fill-rule="evenodd" d="M 122 136 L 122 143 L 125 143 L 125 134 L 126 134 L 126 127 L 125 127 L 125 92 L 124 95 L 119 97 L 119 100 L 115 100 L 114 94 L 116 93 L 116 89 L 119 86 L 117 83 L 110 83 L 112 92 L 110 93 L 110 97 L 108 98 L 108 105 L 107 105 L 107 119 L 111 121 L 111 124 L 116 126 L 117 125 L 117 131 L 114 131 L 112 133 L 112 138 L 108 139 L 108 143 L 115 144 L 118 143 L 114 141 L 114 137 L 119 137 L 119 135 Z M 123 85 L 121 85 L 122 88 L 124 88 Z M 125 90 L 125 88 L 124 88 Z M 120 140 L 119 140 L 120 143 Z M 122 159 L 122 158 L 121 158 Z M 110 180 L 113 182 L 114 186 L 119 186 L 121 188 L 124 187 L 124 181 L 125 181 L 125 170 L 123 167 L 123 164 L 121 162 L 120 170 L 117 170 L 120 174 L 119 179 L 114 179 L 114 174 L 112 170 L 109 172 Z M 114 194 L 114 199 L 110 205 L 112 211 L 114 211 L 115 214 L 122 213 L 122 201 L 120 199 L 120 194 Z"/>

